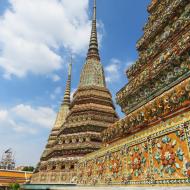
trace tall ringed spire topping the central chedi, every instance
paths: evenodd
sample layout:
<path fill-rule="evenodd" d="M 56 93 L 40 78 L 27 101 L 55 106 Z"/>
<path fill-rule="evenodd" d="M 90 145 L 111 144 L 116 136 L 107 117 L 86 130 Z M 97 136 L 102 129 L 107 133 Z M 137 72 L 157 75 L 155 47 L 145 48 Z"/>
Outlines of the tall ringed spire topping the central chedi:
<path fill-rule="evenodd" d="M 97 28 L 96 28 L 96 0 L 94 0 L 92 29 L 91 29 L 90 43 L 87 54 L 87 59 L 90 58 L 96 58 L 100 60 L 99 51 L 98 51 Z"/>

